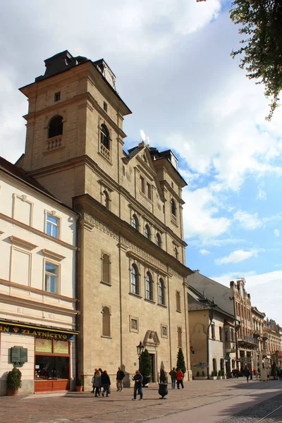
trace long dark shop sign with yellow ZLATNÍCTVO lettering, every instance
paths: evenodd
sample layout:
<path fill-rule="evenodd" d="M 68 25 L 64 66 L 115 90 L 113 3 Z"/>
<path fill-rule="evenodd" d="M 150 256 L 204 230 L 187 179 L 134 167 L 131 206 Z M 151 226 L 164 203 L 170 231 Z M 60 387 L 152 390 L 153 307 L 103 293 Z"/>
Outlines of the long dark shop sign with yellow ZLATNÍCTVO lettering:
<path fill-rule="evenodd" d="M 0 332 L 18 333 L 19 335 L 36 336 L 37 338 L 56 339 L 57 341 L 67 341 L 73 339 L 73 333 L 63 333 L 49 331 L 49 329 L 33 329 L 30 326 L 13 326 L 0 324 Z"/>

